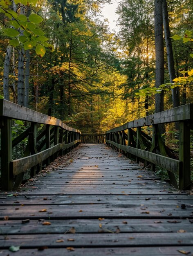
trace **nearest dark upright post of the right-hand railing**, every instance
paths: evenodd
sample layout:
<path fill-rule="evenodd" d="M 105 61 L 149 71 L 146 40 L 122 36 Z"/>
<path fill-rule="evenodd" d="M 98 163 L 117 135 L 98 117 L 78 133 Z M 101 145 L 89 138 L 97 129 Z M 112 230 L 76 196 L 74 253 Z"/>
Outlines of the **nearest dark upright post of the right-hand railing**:
<path fill-rule="evenodd" d="M 188 121 L 180 122 L 179 159 L 183 162 L 179 174 L 179 189 L 189 189 L 191 184 L 190 168 L 190 124 Z"/>

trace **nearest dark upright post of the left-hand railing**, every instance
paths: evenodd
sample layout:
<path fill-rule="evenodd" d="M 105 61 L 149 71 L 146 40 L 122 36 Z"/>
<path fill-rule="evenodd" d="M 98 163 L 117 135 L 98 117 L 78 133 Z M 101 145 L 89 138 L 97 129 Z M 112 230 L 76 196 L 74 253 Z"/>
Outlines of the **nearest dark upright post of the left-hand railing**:
<path fill-rule="evenodd" d="M 1 145 L 1 187 L 2 190 L 12 190 L 13 170 L 10 169 L 10 161 L 12 160 L 11 118 L 2 118 Z"/>

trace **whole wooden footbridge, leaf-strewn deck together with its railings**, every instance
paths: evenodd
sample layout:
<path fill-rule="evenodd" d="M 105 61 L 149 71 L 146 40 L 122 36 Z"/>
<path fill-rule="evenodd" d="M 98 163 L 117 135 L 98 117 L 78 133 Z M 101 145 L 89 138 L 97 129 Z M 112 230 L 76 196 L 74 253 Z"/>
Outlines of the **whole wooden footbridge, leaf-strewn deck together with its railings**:
<path fill-rule="evenodd" d="M 79 130 L 0 100 L 0 255 L 192 255 L 193 193 L 185 190 L 192 113 L 185 105 L 112 129 L 106 144 L 80 144 Z M 30 122 L 13 141 L 11 119 Z M 159 134 L 158 125 L 169 122 L 180 125 L 179 159 Z M 37 124 L 45 126 L 39 134 Z M 25 157 L 12 160 L 12 148 L 26 137 Z M 155 164 L 177 189 L 155 175 Z M 29 181 L 10 191 L 23 173 Z"/>

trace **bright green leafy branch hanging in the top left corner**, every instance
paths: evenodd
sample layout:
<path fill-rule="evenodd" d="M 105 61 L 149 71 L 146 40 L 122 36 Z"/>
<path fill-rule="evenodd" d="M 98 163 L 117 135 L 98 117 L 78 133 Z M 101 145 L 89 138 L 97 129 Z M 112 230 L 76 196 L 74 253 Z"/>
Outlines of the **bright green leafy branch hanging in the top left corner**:
<path fill-rule="evenodd" d="M 20 4 L 20 7 L 23 5 L 28 7 L 29 5 L 35 6 L 37 0 L 15 0 L 14 2 Z M 29 17 L 18 14 L 10 8 L 11 4 L 9 0 L 0 0 L 0 12 L 10 19 L 11 27 L 4 29 L 4 34 L 13 38 L 9 40 L 9 44 L 13 47 L 21 44 L 25 50 L 36 47 L 36 54 L 40 57 L 44 56 L 45 47 L 53 51 L 54 46 L 47 43 L 49 39 L 44 36 L 45 32 L 38 26 L 43 18 L 36 13 L 32 13 Z"/>

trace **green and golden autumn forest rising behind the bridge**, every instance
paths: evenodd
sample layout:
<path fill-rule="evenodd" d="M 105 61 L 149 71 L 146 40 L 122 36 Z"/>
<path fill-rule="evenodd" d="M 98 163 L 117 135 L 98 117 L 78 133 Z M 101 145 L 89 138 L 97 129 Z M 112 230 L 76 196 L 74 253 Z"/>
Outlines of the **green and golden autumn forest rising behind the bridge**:
<path fill-rule="evenodd" d="M 191 103 L 193 2 L 106 3 L 0 0 L 0 97 L 87 133 Z"/>

